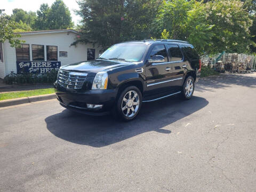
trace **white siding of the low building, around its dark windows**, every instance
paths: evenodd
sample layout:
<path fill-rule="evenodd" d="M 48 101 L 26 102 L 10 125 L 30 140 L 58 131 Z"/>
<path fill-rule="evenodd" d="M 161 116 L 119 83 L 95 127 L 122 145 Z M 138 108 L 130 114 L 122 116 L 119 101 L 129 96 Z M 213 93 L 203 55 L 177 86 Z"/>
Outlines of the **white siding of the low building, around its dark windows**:
<path fill-rule="evenodd" d="M 21 34 L 22 35 L 22 34 Z M 25 40 L 25 44 L 29 44 L 30 61 L 32 61 L 32 49 L 31 45 L 45 45 L 44 54 L 46 61 L 46 45 L 58 46 L 58 61 L 61 62 L 61 66 L 68 65 L 75 62 L 87 60 L 87 49 L 95 49 L 95 58 L 99 55 L 100 48 L 91 44 L 77 44 L 76 46 L 70 46 L 75 41 L 76 34 L 71 32 L 61 33 L 47 33 L 47 34 L 29 34 L 22 35 L 20 39 Z M 5 75 L 10 74 L 11 71 L 17 73 L 16 66 L 16 51 L 14 47 L 11 47 L 8 42 L 4 43 L 5 52 L 5 69 L 1 67 L 0 63 L 0 77 L 3 78 L 4 74 L 1 72 L 5 70 Z M 60 51 L 67 51 L 68 57 L 60 57 Z"/>

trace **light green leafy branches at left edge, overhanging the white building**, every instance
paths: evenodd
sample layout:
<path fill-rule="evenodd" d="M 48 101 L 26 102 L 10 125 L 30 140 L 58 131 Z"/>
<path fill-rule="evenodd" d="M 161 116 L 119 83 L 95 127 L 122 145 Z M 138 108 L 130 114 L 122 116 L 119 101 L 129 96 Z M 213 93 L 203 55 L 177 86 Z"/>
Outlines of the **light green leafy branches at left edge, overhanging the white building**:
<path fill-rule="evenodd" d="M 17 22 L 6 19 L 3 15 L 0 16 L 0 43 L 9 41 L 12 47 L 18 46 L 21 42 L 20 34 L 14 34 L 13 29 L 17 28 Z"/>

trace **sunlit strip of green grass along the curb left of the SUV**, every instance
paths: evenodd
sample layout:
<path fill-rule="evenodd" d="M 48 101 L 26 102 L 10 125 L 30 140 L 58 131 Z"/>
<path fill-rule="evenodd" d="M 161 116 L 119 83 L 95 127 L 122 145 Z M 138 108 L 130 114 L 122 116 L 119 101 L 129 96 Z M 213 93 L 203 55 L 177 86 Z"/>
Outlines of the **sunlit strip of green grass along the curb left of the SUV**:
<path fill-rule="evenodd" d="M 50 93 L 54 93 L 53 88 L 0 93 L 0 101 L 5 99 L 15 99 L 15 98 L 30 97 L 30 96 L 50 94 Z"/>

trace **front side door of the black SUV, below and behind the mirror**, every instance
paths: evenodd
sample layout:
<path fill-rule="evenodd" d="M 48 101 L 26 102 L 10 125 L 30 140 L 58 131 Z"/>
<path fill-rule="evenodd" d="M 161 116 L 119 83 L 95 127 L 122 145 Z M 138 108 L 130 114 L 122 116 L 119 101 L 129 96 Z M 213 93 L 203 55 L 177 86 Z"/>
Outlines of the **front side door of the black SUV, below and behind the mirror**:
<path fill-rule="evenodd" d="M 146 92 L 145 96 L 164 95 L 170 91 L 171 67 L 167 57 L 167 51 L 164 44 L 153 45 L 147 59 L 151 59 L 154 55 L 162 55 L 164 62 L 148 63 L 146 62 Z"/>

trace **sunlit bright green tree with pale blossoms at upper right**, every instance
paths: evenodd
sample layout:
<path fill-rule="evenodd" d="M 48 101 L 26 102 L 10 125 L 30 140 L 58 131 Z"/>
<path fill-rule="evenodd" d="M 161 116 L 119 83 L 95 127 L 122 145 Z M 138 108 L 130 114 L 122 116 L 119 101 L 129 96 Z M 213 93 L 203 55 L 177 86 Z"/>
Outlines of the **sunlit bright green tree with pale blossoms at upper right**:
<path fill-rule="evenodd" d="M 238 0 L 164 1 L 156 17 L 158 30 L 189 41 L 199 54 L 248 52 L 252 20 Z M 158 36 L 159 36 L 158 32 Z"/>

